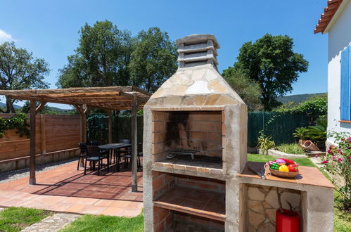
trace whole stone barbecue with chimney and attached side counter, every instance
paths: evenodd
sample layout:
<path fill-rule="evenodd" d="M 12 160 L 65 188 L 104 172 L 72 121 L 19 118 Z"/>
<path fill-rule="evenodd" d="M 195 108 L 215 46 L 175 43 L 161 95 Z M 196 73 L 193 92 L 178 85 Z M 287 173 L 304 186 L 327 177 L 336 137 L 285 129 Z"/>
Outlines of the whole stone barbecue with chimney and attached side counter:
<path fill-rule="evenodd" d="M 248 170 L 247 107 L 217 71 L 215 36 L 176 42 L 177 72 L 144 105 L 145 231 L 274 231 L 277 188 L 302 214 L 303 231 L 317 217 L 333 226 L 333 186 L 323 175 L 311 187 Z M 326 207 L 315 209 L 321 189 Z"/>

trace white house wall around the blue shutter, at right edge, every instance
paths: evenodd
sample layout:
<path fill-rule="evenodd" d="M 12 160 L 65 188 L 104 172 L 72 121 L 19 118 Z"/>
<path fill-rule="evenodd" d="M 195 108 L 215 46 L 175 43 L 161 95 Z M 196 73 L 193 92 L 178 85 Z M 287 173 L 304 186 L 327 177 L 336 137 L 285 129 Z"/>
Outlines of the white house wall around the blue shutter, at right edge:
<path fill-rule="evenodd" d="M 351 42 L 351 1 L 328 32 L 328 131 L 351 133 L 351 122 L 340 120 L 340 57 Z M 333 138 L 328 138 L 333 143 Z"/>

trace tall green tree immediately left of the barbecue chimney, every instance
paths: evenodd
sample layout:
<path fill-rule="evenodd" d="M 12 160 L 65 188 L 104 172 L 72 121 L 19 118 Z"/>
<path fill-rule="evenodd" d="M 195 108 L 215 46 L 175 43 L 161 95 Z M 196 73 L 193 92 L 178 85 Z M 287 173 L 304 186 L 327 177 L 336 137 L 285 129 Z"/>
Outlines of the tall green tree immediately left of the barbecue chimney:
<path fill-rule="evenodd" d="M 129 64 L 132 84 L 153 92 L 177 70 L 176 46 L 158 27 L 139 32 L 137 38 Z"/>

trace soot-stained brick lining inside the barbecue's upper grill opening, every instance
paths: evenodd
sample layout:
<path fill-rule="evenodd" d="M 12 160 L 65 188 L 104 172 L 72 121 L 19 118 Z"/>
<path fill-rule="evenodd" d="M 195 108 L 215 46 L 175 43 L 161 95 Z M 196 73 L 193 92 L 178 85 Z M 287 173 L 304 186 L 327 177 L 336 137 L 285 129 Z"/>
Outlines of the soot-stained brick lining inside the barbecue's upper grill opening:
<path fill-rule="evenodd" d="M 222 157 L 221 111 L 153 111 L 153 155 L 162 160 L 168 149 L 198 149 L 198 155 Z"/>

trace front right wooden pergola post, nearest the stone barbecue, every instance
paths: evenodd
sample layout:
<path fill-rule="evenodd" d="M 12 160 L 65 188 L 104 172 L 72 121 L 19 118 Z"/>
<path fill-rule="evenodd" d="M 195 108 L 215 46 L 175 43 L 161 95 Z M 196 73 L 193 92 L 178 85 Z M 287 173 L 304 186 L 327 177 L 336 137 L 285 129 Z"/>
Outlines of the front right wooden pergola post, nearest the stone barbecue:
<path fill-rule="evenodd" d="M 138 148 L 138 136 L 137 136 L 137 117 L 136 112 L 138 111 L 139 101 L 136 96 L 133 95 L 132 98 L 132 192 L 138 191 L 138 181 L 137 181 L 137 148 Z"/>

